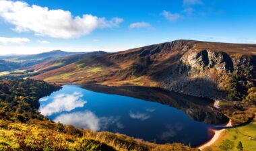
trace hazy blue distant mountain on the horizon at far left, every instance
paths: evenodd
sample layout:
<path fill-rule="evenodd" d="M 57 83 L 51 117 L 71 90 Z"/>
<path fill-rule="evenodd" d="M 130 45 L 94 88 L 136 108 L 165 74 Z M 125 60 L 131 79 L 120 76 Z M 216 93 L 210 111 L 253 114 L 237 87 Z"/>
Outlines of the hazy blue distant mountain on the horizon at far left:
<path fill-rule="evenodd" d="M 28 66 L 33 66 L 35 64 L 39 64 L 41 62 L 45 62 L 47 60 L 51 60 L 54 58 L 60 58 L 63 56 L 70 56 L 73 54 L 82 54 L 84 52 L 64 52 L 61 50 L 54 50 L 51 52 L 44 52 L 40 54 L 9 54 L 0 56 L 1 64 L 3 68 L 0 71 L 9 71 L 18 68 L 26 68 Z M 4 67 L 6 66 L 6 67 Z"/>

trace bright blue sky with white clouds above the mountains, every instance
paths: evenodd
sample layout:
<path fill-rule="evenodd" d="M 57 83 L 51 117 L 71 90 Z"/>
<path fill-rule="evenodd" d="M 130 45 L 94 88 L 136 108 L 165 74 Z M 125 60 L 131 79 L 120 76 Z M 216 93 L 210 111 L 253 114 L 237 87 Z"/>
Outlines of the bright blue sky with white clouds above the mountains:
<path fill-rule="evenodd" d="M 202 40 L 256 44 L 254 0 L 0 0 L 0 54 L 115 52 Z"/>

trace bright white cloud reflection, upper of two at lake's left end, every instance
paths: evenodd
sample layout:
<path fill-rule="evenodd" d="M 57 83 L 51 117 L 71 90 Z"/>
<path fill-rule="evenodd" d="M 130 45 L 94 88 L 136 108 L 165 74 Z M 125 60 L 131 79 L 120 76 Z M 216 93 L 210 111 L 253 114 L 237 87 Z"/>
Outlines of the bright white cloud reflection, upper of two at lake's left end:
<path fill-rule="evenodd" d="M 53 98 L 51 103 L 40 107 L 42 115 L 49 116 L 53 113 L 60 113 L 62 111 L 71 111 L 76 107 L 84 107 L 86 101 L 82 99 L 83 95 L 79 92 L 73 94 L 59 94 Z"/>

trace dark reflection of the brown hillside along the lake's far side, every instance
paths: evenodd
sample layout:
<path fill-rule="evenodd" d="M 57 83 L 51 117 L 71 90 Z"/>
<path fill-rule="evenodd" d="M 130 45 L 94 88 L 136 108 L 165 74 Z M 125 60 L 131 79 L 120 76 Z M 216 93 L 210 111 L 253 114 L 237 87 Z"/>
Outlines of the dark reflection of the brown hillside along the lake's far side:
<path fill-rule="evenodd" d="M 213 107 L 214 101 L 212 99 L 182 95 L 165 89 L 151 87 L 108 87 L 104 85 L 84 85 L 83 87 L 96 92 L 125 95 L 170 105 L 171 107 L 182 109 L 192 119 L 203 121 L 204 123 L 220 124 L 228 122 L 228 117 Z M 154 109 L 148 110 L 154 111 Z"/>

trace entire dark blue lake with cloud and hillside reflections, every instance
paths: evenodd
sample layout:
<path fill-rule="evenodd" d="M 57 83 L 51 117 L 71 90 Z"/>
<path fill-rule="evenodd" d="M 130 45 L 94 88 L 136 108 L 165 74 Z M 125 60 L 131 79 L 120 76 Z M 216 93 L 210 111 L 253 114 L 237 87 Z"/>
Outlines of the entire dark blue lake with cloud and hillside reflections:
<path fill-rule="evenodd" d="M 191 146 L 209 140 L 209 128 L 227 121 L 208 99 L 146 87 L 65 85 L 40 99 L 40 112 L 78 128 Z"/>

